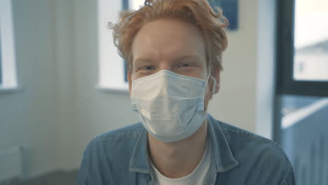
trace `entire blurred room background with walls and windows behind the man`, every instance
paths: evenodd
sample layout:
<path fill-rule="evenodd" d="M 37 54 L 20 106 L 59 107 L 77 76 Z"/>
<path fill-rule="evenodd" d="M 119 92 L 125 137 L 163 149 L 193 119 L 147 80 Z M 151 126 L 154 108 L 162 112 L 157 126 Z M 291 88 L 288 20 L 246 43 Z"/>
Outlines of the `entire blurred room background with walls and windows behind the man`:
<path fill-rule="evenodd" d="M 328 2 L 213 0 L 231 22 L 214 118 L 328 184 Z M 0 0 L 0 184 L 76 184 L 93 137 L 137 123 L 107 28 L 138 0 Z"/>

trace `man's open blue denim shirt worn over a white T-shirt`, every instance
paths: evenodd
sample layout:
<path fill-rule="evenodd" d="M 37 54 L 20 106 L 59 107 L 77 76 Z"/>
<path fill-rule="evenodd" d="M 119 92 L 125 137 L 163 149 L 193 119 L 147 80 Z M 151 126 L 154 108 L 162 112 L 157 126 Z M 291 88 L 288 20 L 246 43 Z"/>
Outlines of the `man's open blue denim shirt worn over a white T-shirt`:
<path fill-rule="evenodd" d="M 210 170 L 203 184 L 295 184 L 292 165 L 269 139 L 207 114 Z M 141 123 L 104 133 L 83 153 L 78 185 L 152 184 L 147 132 Z"/>

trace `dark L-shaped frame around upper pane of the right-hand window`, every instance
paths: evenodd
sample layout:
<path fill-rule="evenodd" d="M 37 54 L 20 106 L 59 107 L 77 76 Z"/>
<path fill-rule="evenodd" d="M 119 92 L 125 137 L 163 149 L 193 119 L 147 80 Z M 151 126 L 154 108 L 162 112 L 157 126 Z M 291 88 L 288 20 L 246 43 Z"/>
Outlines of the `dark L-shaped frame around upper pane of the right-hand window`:
<path fill-rule="evenodd" d="M 295 0 L 278 0 L 276 94 L 328 96 L 328 81 L 295 81 L 294 5 Z"/>

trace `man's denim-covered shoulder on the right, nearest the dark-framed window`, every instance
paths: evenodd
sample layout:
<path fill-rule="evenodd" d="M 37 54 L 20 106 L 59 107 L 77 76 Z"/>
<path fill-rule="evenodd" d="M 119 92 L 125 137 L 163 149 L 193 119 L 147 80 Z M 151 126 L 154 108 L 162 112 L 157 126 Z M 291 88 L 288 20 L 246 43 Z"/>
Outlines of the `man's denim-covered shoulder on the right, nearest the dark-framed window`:
<path fill-rule="evenodd" d="M 231 170 L 232 174 L 239 174 L 240 179 L 247 179 L 250 184 L 284 184 L 293 178 L 292 165 L 277 143 L 221 121 L 215 121 L 213 125 L 215 130 L 221 128 L 239 163 Z"/>

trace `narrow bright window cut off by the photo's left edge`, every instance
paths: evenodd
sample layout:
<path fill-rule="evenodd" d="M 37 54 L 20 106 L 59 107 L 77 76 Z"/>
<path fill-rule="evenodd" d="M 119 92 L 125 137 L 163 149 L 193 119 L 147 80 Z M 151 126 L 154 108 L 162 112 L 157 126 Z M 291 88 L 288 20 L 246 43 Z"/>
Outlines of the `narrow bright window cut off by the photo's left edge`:
<path fill-rule="evenodd" d="M 11 1 L 0 1 L 0 90 L 17 88 Z"/>

